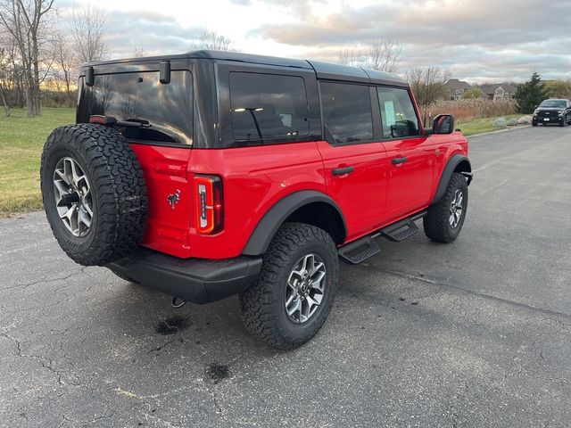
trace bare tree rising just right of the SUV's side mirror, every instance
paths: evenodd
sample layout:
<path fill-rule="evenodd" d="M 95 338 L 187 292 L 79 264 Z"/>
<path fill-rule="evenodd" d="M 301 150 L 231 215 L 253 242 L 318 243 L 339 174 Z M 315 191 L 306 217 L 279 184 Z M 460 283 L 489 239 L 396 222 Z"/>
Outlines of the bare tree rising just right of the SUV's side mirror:
<path fill-rule="evenodd" d="M 425 126 L 428 106 L 446 95 L 444 83 L 450 78 L 451 72 L 439 67 L 417 67 L 407 70 L 406 79 L 417 98 L 418 105 L 424 111 Z"/>

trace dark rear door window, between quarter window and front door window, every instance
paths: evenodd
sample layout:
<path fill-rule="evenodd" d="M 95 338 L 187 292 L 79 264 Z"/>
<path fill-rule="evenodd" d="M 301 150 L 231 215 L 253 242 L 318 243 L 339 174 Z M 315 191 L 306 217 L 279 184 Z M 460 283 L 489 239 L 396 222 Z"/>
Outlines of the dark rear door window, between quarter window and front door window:
<path fill-rule="evenodd" d="M 373 139 L 373 119 L 368 86 L 321 82 L 321 109 L 326 136 L 335 144 Z"/>

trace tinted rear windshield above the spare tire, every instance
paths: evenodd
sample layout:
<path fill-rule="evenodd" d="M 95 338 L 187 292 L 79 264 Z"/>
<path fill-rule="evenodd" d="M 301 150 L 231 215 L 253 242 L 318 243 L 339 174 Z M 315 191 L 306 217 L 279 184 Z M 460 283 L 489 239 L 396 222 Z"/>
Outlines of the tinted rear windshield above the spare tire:
<path fill-rule="evenodd" d="M 88 122 L 93 114 L 141 123 L 117 127 L 131 140 L 192 145 L 192 75 L 171 71 L 166 85 L 158 71 L 96 75 L 94 86 L 81 86 L 78 122 Z"/>

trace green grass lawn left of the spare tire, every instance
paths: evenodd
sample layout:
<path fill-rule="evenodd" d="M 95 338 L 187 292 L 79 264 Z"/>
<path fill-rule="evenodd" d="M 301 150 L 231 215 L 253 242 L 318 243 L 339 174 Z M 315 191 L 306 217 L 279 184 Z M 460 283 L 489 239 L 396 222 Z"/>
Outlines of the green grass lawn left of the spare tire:
<path fill-rule="evenodd" d="M 0 217 L 42 207 L 39 164 L 47 136 L 54 128 L 75 122 L 75 109 L 43 108 L 27 117 L 24 109 L 0 111 Z"/>

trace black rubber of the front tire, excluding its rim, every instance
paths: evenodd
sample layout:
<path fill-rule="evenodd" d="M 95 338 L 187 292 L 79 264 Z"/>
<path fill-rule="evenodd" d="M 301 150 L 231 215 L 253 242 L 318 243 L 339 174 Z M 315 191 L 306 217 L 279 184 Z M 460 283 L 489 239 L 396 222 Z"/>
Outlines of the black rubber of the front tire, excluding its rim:
<path fill-rule="evenodd" d="M 464 177 L 459 172 L 452 173 L 452 177 L 448 182 L 446 187 L 446 192 L 444 192 L 443 197 L 439 202 L 431 205 L 428 208 L 428 213 L 423 218 L 423 226 L 425 229 L 425 234 L 428 238 L 436 243 L 451 243 L 456 239 L 456 236 L 450 234 L 450 227 L 448 226 L 448 219 L 450 217 L 450 204 L 454 199 L 454 193 L 459 187 L 462 188 L 465 199 L 465 206 L 463 217 L 460 220 L 459 228 L 464 224 L 464 219 L 466 218 L 468 210 L 468 184 L 466 182 L 466 177 Z"/>

